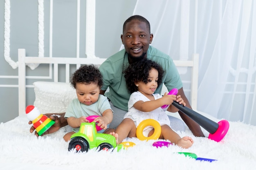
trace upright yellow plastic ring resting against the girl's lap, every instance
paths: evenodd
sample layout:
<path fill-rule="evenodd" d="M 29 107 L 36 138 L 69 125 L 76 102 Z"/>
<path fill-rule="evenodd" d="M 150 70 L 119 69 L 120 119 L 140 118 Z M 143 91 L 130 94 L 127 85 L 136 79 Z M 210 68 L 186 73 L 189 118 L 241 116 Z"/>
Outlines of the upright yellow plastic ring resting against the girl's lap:
<path fill-rule="evenodd" d="M 143 135 L 143 130 L 144 128 L 146 128 L 146 126 L 153 126 L 154 128 L 154 133 L 150 137 L 145 137 Z M 158 123 L 158 121 L 154 119 L 146 119 L 144 121 L 141 121 L 136 130 L 137 138 L 142 141 L 150 140 L 150 139 L 157 140 L 160 137 L 160 135 L 161 135 L 161 126 Z"/>

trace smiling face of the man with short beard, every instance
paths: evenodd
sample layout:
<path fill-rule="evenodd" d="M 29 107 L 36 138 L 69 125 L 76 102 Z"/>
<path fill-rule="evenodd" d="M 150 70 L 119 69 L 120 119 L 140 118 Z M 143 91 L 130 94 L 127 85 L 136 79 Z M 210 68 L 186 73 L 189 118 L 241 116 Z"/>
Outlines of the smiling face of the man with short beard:
<path fill-rule="evenodd" d="M 145 22 L 132 20 L 126 24 L 121 40 L 128 53 L 129 62 L 135 62 L 147 57 L 153 34 L 150 34 Z"/>

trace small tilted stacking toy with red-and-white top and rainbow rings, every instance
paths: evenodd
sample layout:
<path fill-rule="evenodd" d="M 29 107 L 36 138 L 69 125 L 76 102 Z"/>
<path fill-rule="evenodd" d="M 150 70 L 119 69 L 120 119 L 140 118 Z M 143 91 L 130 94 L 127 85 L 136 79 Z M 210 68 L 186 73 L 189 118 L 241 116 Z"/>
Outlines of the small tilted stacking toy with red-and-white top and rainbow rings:
<path fill-rule="evenodd" d="M 46 130 L 48 130 L 55 121 L 49 119 L 46 115 L 40 114 L 38 108 L 33 105 L 26 107 L 27 118 L 32 121 L 34 128 L 38 135 L 42 135 Z"/>

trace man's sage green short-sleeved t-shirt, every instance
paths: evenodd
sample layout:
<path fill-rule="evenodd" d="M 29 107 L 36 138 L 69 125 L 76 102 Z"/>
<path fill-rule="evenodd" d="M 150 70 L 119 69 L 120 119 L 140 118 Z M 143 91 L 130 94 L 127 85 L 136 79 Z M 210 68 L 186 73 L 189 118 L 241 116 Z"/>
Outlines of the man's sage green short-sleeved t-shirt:
<path fill-rule="evenodd" d="M 147 58 L 157 62 L 164 69 L 162 80 L 168 91 L 171 91 L 173 88 L 182 88 L 183 84 L 180 79 L 180 75 L 169 55 L 149 46 Z M 126 87 L 126 80 L 124 78 L 123 71 L 128 65 L 128 54 L 125 49 L 123 49 L 110 56 L 99 67 L 99 71 L 103 76 L 103 86 L 101 87 L 101 90 L 106 91 L 109 87 L 109 91 L 105 93 L 105 96 L 110 99 L 115 107 L 126 111 L 128 111 L 128 100 L 131 93 Z M 163 84 L 159 84 L 155 93 L 160 94 L 162 86 Z"/>

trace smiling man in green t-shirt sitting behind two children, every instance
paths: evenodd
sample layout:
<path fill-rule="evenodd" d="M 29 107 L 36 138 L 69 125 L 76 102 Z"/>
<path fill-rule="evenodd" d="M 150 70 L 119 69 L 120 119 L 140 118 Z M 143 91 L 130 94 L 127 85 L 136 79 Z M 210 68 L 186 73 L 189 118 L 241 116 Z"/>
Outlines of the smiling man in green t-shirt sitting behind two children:
<path fill-rule="evenodd" d="M 103 75 L 101 94 L 105 94 L 105 91 L 109 88 L 109 92 L 105 95 L 109 98 L 110 106 L 114 110 L 114 117 L 110 123 L 110 128 L 116 128 L 128 111 L 127 104 L 130 93 L 126 88 L 123 71 L 129 64 L 144 58 L 153 60 L 164 68 L 165 74 L 163 82 L 168 88 L 168 91 L 173 88 L 178 88 L 179 92 L 177 95 L 181 95 L 187 106 L 191 108 L 188 99 L 184 95 L 180 75 L 177 72 L 177 68 L 173 63 L 173 60 L 168 55 L 149 45 L 153 40 L 153 34 L 150 34 L 150 23 L 148 20 L 140 15 L 134 15 L 128 18 L 124 22 L 121 40 L 125 49 L 110 56 L 99 67 L 99 70 Z M 161 93 L 162 85 L 163 84 L 157 88 L 155 93 Z M 191 120 L 182 112 L 179 112 L 179 114 L 195 136 L 204 136 L 200 126 L 195 121 Z M 173 124 L 177 123 L 179 119 L 170 116 L 169 119 L 171 121 L 172 128 L 175 130 L 182 130 L 179 129 L 182 128 L 182 126 L 173 126 Z"/>

